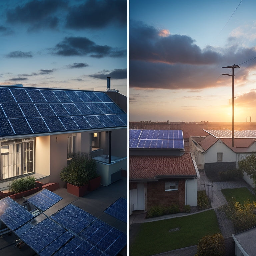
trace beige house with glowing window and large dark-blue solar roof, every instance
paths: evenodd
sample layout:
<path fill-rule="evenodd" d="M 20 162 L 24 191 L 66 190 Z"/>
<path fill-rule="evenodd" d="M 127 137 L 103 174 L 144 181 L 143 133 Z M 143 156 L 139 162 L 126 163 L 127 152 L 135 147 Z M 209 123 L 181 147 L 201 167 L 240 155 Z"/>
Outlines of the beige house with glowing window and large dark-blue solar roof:
<path fill-rule="evenodd" d="M 0 86 L 0 183 L 33 174 L 63 186 L 59 173 L 80 151 L 103 156 L 109 185 L 127 170 L 126 137 L 127 114 L 105 92 Z"/>

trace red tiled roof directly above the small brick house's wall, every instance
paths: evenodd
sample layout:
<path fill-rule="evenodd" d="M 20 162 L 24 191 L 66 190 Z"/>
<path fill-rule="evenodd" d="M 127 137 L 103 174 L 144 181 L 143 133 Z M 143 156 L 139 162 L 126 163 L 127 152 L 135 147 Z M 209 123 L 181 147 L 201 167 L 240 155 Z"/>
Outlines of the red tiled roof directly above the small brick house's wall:
<path fill-rule="evenodd" d="M 130 156 L 129 159 L 130 180 L 196 176 L 190 152 L 182 156 Z"/>

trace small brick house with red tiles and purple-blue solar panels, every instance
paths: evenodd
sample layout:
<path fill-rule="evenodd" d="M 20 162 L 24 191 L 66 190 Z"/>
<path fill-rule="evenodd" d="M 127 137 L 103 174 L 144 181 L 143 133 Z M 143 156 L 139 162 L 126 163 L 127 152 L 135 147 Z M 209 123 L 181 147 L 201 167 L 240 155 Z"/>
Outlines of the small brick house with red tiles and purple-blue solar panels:
<path fill-rule="evenodd" d="M 132 138 L 131 132 L 134 134 L 134 131 L 138 139 Z M 179 131 L 182 134 L 182 131 Z M 147 130 L 130 130 L 130 214 L 136 210 L 147 212 L 153 206 L 178 205 L 181 211 L 187 204 L 197 206 L 199 174 L 190 152 L 184 151 L 183 143 L 175 146 L 173 137 L 159 139 L 159 134 L 162 132 L 170 134 L 174 133 L 174 130 L 150 130 L 150 132 L 153 133 L 152 138 L 150 139 L 149 134 L 148 139 L 143 139 Z M 158 134 L 158 137 L 154 134 Z M 171 146 L 167 146 L 168 140 Z M 182 136 L 179 140 L 183 140 Z M 161 147 L 157 147 L 160 143 Z"/>

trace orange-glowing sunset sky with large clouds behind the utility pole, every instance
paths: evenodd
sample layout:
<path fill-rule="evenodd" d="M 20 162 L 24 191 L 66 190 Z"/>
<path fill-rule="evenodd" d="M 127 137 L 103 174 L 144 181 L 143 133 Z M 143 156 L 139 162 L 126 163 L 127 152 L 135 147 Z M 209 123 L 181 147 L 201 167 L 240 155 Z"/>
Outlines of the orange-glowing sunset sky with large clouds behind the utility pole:
<path fill-rule="evenodd" d="M 256 122 L 256 2 L 129 1 L 130 121 Z M 249 118 L 248 118 L 249 120 Z"/>

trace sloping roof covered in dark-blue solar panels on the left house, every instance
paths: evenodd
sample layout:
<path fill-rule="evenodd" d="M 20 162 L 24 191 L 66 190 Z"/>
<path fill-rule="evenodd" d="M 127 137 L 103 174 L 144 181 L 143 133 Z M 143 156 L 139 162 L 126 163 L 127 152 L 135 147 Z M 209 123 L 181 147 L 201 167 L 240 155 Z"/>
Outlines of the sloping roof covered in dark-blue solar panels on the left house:
<path fill-rule="evenodd" d="M 0 137 L 127 126 L 104 92 L 0 86 Z"/>

